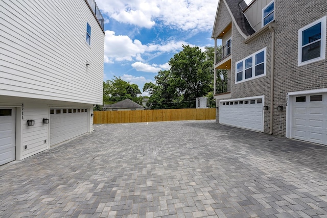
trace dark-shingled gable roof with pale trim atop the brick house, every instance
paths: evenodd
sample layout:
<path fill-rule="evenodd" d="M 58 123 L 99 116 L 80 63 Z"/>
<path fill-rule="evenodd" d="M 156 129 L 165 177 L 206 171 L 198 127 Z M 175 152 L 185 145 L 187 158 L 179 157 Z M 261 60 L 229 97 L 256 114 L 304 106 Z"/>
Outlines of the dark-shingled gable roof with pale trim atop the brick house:
<path fill-rule="evenodd" d="M 233 22 L 235 23 L 237 30 L 245 39 L 248 36 L 255 33 L 255 30 L 253 30 L 249 21 L 246 19 L 245 15 L 243 14 L 243 10 L 239 6 L 239 0 L 220 0 L 218 3 L 216 19 L 218 17 L 218 13 L 219 13 L 220 2 L 225 3 L 231 18 L 232 18 Z M 244 0 L 242 0 L 242 2 L 240 2 L 240 4 L 242 4 L 243 6 L 246 5 Z M 216 27 L 216 21 L 217 21 L 216 19 L 215 19 L 215 24 L 214 24 L 214 30 Z M 214 34 L 214 32 L 213 32 L 213 34 Z"/>

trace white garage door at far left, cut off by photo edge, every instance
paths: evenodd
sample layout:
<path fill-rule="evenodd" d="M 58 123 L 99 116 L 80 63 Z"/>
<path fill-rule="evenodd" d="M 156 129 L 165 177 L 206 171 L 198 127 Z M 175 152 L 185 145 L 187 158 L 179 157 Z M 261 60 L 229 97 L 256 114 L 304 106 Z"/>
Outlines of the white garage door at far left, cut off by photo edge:
<path fill-rule="evenodd" d="M 0 109 L 0 165 L 15 160 L 16 109 Z"/>

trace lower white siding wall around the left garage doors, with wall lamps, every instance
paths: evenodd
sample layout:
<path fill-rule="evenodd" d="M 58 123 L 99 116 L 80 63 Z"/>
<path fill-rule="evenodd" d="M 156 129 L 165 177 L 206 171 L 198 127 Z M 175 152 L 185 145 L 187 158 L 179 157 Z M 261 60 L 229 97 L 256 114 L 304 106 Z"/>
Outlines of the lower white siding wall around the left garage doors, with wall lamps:
<path fill-rule="evenodd" d="M 93 130 L 93 104 L 67 103 L 52 100 L 24 99 L 11 96 L 0 95 L 0 108 L 15 108 L 16 106 L 16 125 L 20 131 L 16 131 L 16 160 L 24 159 L 41 151 L 50 148 L 50 124 L 43 124 L 43 118 L 50 118 L 50 107 L 70 107 L 87 109 L 88 124 L 87 131 Z M 18 110 L 19 108 L 19 110 Z M 28 126 L 27 120 L 35 121 L 34 126 Z M 18 134 L 18 135 L 17 135 Z M 44 142 L 46 140 L 46 142 Z M 25 149 L 27 146 L 27 149 Z M 19 148 L 17 148 L 19 147 Z"/>

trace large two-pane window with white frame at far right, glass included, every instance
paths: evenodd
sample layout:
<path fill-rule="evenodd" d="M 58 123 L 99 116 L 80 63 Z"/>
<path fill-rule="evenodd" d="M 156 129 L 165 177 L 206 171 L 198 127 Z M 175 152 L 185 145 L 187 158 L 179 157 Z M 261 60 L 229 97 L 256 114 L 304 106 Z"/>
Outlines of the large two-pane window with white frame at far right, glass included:
<path fill-rule="evenodd" d="M 326 48 L 326 16 L 299 29 L 298 62 L 305 65 L 325 59 Z"/>

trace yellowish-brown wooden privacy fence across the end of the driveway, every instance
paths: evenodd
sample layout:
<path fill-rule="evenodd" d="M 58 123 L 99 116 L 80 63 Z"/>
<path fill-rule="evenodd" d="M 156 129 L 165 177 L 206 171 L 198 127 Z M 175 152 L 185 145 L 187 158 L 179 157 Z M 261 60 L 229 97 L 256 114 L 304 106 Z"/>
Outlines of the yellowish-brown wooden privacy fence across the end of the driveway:
<path fill-rule="evenodd" d="M 94 111 L 93 123 L 119 124 L 202 119 L 216 119 L 216 108 Z"/>

